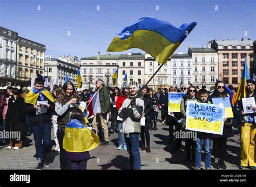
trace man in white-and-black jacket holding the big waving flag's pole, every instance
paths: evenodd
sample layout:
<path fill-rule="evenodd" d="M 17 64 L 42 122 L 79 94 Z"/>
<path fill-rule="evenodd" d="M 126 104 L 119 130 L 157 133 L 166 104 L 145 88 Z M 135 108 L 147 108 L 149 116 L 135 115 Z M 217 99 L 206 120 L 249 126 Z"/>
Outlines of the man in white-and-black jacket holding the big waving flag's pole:
<path fill-rule="evenodd" d="M 125 133 L 127 151 L 130 154 L 131 169 L 140 169 L 139 133 L 140 118 L 144 111 L 144 100 L 138 96 L 138 83 L 131 81 L 128 85 L 130 97 L 124 100 L 118 111 L 118 116 L 123 118 L 122 131 Z"/>

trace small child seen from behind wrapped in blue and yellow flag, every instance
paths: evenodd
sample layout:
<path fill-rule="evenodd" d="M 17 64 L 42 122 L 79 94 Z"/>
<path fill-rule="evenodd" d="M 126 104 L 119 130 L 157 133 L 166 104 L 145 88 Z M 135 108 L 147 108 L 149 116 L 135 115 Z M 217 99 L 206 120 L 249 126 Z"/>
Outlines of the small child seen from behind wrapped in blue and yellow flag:
<path fill-rule="evenodd" d="M 72 170 L 84 170 L 90 158 L 89 150 L 99 145 L 96 130 L 84 126 L 83 112 L 75 108 L 70 116 L 70 123 L 65 126 L 63 148 L 66 150 L 66 159 L 71 161 Z"/>

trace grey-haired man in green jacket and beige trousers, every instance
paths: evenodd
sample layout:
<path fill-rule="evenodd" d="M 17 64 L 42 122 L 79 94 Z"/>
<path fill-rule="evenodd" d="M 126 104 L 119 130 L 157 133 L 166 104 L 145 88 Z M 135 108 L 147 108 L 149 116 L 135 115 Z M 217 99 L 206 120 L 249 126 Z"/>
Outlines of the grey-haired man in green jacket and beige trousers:
<path fill-rule="evenodd" d="M 97 113 L 93 118 L 92 128 L 97 131 L 98 126 L 102 126 L 104 131 L 104 141 L 100 143 L 100 146 L 106 146 L 109 145 L 109 128 L 106 123 L 107 112 L 109 112 L 110 109 L 109 92 L 105 88 L 104 82 L 100 79 L 96 81 L 96 88 L 99 90 L 99 103 L 102 112 Z"/>

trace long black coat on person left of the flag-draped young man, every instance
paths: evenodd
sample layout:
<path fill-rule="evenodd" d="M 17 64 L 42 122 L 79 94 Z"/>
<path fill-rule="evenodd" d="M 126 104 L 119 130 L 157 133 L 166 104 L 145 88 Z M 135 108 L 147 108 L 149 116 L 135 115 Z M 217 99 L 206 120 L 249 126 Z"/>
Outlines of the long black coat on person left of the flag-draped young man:
<path fill-rule="evenodd" d="M 11 97 L 6 112 L 6 131 L 21 132 L 21 140 L 26 138 L 28 126 L 25 123 L 24 99 L 20 96 L 15 102 L 15 98 Z M 13 141 L 17 139 L 12 139 Z"/>

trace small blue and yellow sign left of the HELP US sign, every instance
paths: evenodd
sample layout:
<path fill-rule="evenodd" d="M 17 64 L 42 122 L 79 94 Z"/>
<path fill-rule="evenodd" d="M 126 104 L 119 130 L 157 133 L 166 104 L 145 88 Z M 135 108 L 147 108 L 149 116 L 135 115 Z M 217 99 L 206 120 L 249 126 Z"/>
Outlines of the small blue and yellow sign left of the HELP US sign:
<path fill-rule="evenodd" d="M 180 112 L 180 102 L 186 93 L 168 93 L 168 112 Z"/>

